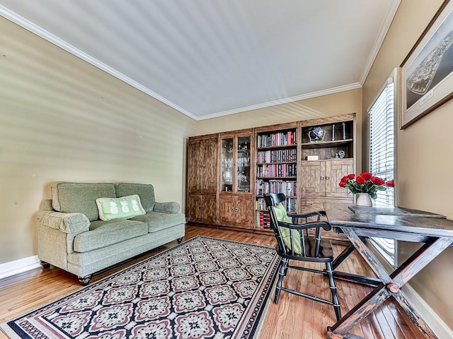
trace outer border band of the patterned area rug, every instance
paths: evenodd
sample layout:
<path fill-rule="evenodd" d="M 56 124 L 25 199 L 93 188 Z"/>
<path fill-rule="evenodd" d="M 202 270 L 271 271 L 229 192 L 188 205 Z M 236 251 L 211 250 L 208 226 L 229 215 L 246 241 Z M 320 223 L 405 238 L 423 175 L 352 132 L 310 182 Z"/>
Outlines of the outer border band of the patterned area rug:
<path fill-rule="evenodd" d="M 166 253 L 167 251 L 171 251 L 172 249 L 174 249 L 175 247 L 177 246 L 180 246 L 180 245 L 183 245 L 183 244 L 186 244 L 188 242 L 193 242 L 195 241 L 195 239 L 214 239 L 214 240 L 218 240 L 218 241 L 221 241 L 221 242 L 230 242 L 230 243 L 236 243 L 236 244 L 244 244 L 244 245 L 248 245 L 248 246 L 256 246 L 256 247 L 262 247 L 262 248 L 265 248 L 265 249 L 273 249 L 273 247 L 270 247 L 270 246 L 263 246 L 263 245 L 258 245 L 258 244 L 250 244 L 248 242 L 238 242 L 236 240 L 229 240 L 229 239 L 219 239 L 219 238 L 215 238 L 215 237 L 206 237 L 204 235 L 195 235 L 195 237 L 192 237 L 190 239 L 187 239 L 185 240 L 184 242 L 181 242 L 180 244 L 176 244 L 176 246 L 173 246 L 169 249 L 165 249 L 164 251 L 161 251 L 159 253 L 156 253 L 154 254 L 153 256 L 156 256 L 156 255 L 160 255 L 160 254 L 164 254 Z M 276 255 L 276 254 L 275 254 Z M 16 331 L 13 330 L 13 328 L 11 328 L 11 326 L 8 325 L 9 322 L 11 321 L 16 321 L 17 319 L 19 318 L 23 318 L 24 316 L 28 316 L 29 314 L 37 311 L 38 309 L 42 309 L 43 307 L 47 307 L 49 306 L 50 304 L 54 304 L 55 302 L 59 302 L 60 300 L 62 299 L 65 299 L 67 297 L 71 297 L 72 295 L 75 295 L 76 293 L 79 293 L 81 290 L 85 290 L 85 289 L 88 289 L 90 286 L 92 285 L 95 285 L 95 284 L 98 284 L 98 283 L 101 283 L 103 280 L 107 280 L 109 278 L 111 278 L 113 275 L 117 275 L 119 273 L 122 273 L 123 271 L 125 270 L 129 270 L 130 268 L 133 268 L 134 266 L 138 266 L 138 265 L 141 265 L 144 261 L 147 261 L 149 260 L 149 258 L 151 258 L 152 256 L 148 257 L 148 258 L 144 258 L 143 260 L 137 262 L 137 263 L 134 263 L 132 266 L 127 266 L 125 268 L 122 268 L 121 270 L 118 270 L 117 272 L 115 273 L 112 273 L 104 278 L 102 278 L 101 280 L 98 280 L 96 281 L 95 283 L 91 284 L 91 285 L 87 285 L 87 286 L 81 286 L 81 288 L 79 288 L 79 290 L 76 290 L 74 292 L 71 292 L 69 293 L 69 295 L 64 295 L 63 297 L 60 297 L 58 299 L 55 299 L 53 300 L 52 302 L 48 302 L 47 304 L 42 304 L 40 307 L 36 307 L 35 309 L 32 309 L 31 311 L 28 311 L 26 312 L 25 314 L 21 314 L 21 316 L 16 316 L 15 318 L 13 319 L 9 319 L 9 320 L 6 320 L 4 321 L 3 323 L 0 323 L 0 330 L 9 338 L 9 339 L 22 339 L 23 337 L 21 337 L 20 335 L 18 335 L 18 333 L 16 333 Z M 277 260 L 278 261 L 279 258 L 274 258 L 273 261 Z M 273 263 L 270 264 L 269 268 L 271 268 L 271 266 L 273 265 Z M 276 267 L 276 266 L 274 266 Z M 61 269 L 61 268 L 60 268 Z M 277 274 L 274 274 L 273 278 L 272 278 L 272 281 L 270 283 L 270 288 L 268 289 L 268 292 L 266 293 L 265 295 L 265 299 L 266 299 L 266 302 L 264 304 L 264 306 L 260 309 L 260 314 L 258 315 L 260 317 L 260 320 L 257 321 L 254 325 L 253 325 L 253 328 L 251 329 L 251 336 L 249 336 L 248 338 L 249 339 L 254 339 L 254 338 L 258 338 L 256 337 L 256 335 L 259 335 L 260 334 L 260 330 L 263 326 L 263 319 L 264 319 L 264 315 L 265 313 L 267 313 L 268 311 L 268 308 L 269 308 L 269 305 L 270 305 L 270 294 L 273 290 L 273 286 L 275 285 L 275 278 L 277 277 Z M 264 278 L 264 277 L 263 277 Z M 20 329 L 20 328 L 19 328 Z"/>

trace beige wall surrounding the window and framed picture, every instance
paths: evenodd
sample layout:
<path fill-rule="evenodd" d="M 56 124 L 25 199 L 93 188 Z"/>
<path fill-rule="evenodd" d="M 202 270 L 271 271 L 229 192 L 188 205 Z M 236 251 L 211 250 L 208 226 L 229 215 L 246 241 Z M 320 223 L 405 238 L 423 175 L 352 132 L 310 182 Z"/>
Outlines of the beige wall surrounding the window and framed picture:
<path fill-rule="evenodd" d="M 379 55 L 363 86 L 363 107 L 367 109 L 391 70 L 399 66 L 425 30 L 442 0 L 403 0 Z M 430 210 L 453 219 L 453 101 L 442 105 L 420 121 L 397 133 L 396 193 L 398 205 Z M 364 117 L 367 117 L 364 114 Z M 367 134 L 367 121 L 364 135 Z M 364 138 L 366 141 L 367 138 Z M 363 145 L 367 149 L 367 145 Z M 364 157 L 365 158 L 365 157 Z M 418 247 L 399 243 L 399 261 Z M 453 248 L 423 269 L 410 281 L 438 316 L 453 328 Z"/>

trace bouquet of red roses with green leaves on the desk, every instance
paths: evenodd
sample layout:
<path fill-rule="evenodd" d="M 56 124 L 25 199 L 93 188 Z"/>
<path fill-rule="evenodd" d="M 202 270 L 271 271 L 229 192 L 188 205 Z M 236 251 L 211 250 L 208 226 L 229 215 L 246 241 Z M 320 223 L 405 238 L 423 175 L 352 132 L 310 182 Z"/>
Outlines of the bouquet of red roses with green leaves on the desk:
<path fill-rule="evenodd" d="M 340 187 L 346 187 L 352 194 L 367 193 L 373 199 L 377 198 L 377 191 L 385 191 L 387 187 L 394 187 L 394 181 L 385 182 L 384 179 L 374 177 L 369 172 L 362 172 L 355 177 L 355 174 L 348 174 L 341 178 Z"/>

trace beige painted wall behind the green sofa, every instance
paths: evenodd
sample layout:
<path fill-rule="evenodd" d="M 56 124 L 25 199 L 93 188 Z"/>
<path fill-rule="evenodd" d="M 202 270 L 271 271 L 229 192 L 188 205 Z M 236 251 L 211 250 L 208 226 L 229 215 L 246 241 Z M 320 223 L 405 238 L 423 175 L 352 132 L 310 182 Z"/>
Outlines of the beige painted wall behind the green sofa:
<path fill-rule="evenodd" d="M 52 182 L 151 183 L 183 205 L 196 121 L 1 17 L 0 32 L 0 263 L 37 253 Z"/>

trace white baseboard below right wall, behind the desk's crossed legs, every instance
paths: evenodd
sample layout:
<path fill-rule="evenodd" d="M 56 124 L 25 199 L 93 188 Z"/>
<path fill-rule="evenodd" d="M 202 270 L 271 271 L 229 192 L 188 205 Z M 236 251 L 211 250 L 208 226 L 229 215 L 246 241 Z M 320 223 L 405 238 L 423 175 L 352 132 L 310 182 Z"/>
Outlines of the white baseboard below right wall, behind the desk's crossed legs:
<path fill-rule="evenodd" d="M 425 319 L 428 326 L 434 331 L 437 335 L 437 338 L 442 339 L 453 339 L 453 331 L 451 328 L 447 326 L 447 324 L 440 319 L 439 316 L 432 310 L 430 305 L 428 305 L 425 300 L 423 300 L 420 295 L 415 292 L 415 290 L 411 287 L 411 285 L 404 285 L 401 290 L 403 290 L 404 295 L 411 300 L 413 307 L 417 309 L 420 316 Z"/>

